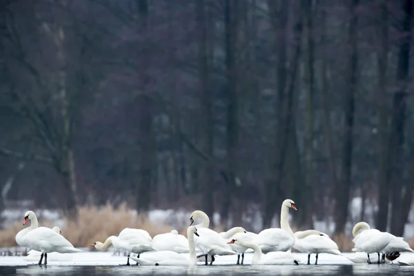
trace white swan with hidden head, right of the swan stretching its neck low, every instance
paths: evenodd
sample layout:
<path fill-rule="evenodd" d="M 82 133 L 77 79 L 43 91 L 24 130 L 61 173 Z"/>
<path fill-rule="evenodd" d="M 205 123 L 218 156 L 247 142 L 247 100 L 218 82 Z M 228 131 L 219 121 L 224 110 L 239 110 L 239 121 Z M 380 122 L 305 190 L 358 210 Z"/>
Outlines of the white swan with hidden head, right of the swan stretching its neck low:
<path fill-rule="evenodd" d="M 187 238 L 179 235 L 177 230 L 156 235 L 152 239 L 152 247 L 157 251 L 174 251 L 176 253 L 190 252 Z"/>

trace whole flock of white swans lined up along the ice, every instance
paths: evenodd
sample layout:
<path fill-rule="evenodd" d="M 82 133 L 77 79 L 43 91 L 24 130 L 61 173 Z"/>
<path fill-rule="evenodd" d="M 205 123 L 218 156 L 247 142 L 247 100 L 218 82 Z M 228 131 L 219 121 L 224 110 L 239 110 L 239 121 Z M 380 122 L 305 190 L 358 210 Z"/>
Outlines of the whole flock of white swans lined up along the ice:
<path fill-rule="evenodd" d="M 244 264 L 244 253 L 249 251 L 253 251 L 252 265 L 297 265 L 299 262 L 291 253 L 292 248 L 308 254 L 307 264 L 311 264 L 311 254 L 316 255 L 315 264 L 320 253 L 342 255 L 337 244 L 325 233 L 317 230 L 293 233 L 288 221 L 290 208 L 297 210 L 295 202 L 291 199 L 284 200 L 280 228 L 264 229 L 258 234 L 248 232 L 242 227 L 217 233 L 208 228 L 208 215 L 196 210 L 190 215 L 187 237 L 179 235 L 177 230 L 172 230 L 171 233 L 151 238 L 146 230 L 125 228 L 118 236 L 110 236 L 105 242 L 94 242 L 91 246 L 97 250 L 106 250 L 113 246 L 125 251 L 128 253 L 127 266 L 130 265 L 130 259 L 141 266 L 197 265 L 200 259 L 206 265 L 208 262 L 211 265 L 215 262 L 215 256 L 221 255 L 237 255 L 236 264 Z M 197 219 L 201 219 L 201 223 L 193 225 Z M 30 226 L 17 233 L 16 242 L 20 246 L 30 248 L 29 255 L 40 257 L 39 265 L 42 264 L 43 257 L 43 264 L 47 264 L 48 253 L 81 252 L 61 235 L 59 227 L 39 227 L 37 217 L 32 211 L 26 212 L 23 225 L 26 225 L 28 220 L 31 221 Z M 355 255 L 348 257 L 352 262 L 372 264 L 370 254 L 377 253 L 377 264 L 382 264 L 386 262 L 385 258 L 392 262 L 400 256 L 400 252 L 414 252 L 402 237 L 372 229 L 364 221 L 355 224 L 353 236 L 355 246 L 352 251 Z M 188 253 L 189 258 L 183 255 Z"/>

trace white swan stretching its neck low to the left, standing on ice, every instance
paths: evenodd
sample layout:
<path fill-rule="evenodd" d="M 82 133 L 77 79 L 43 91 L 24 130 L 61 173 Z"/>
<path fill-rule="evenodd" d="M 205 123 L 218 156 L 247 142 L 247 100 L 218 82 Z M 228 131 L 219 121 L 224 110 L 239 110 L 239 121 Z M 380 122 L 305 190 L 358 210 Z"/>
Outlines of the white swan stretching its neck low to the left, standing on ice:
<path fill-rule="evenodd" d="M 155 251 L 155 248 L 152 247 L 150 234 L 146 230 L 135 228 L 125 228 L 119 233 L 118 237 L 110 236 L 103 243 L 94 242 L 93 244 L 90 244 L 90 246 L 95 247 L 97 250 L 106 250 L 111 245 L 119 250 L 128 252 L 127 266 L 130 265 L 129 253 L 135 253 L 139 256 L 139 254 L 146 251 Z"/>

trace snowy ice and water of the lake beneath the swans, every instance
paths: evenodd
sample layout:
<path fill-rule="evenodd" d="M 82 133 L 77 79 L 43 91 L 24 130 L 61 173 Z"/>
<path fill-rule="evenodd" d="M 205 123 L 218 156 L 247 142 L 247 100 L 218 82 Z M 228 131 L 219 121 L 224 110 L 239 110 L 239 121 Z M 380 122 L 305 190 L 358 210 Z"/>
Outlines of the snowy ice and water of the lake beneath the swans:
<path fill-rule="evenodd" d="M 298 262 L 306 263 L 306 254 L 297 255 Z M 353 253 L 344 253 L 351 256 Z M 236 266 L 235 256 L 217 257 L 213 266 L 124 266 L 126 257 L 112 253 L 77 253 L 56 255 L 50 253 L 48 266 L 37 266 L 37 261 L 23 257 L 0 257 L 0 275 L 413 275 L 414 266 L 397 264 L 353 264 L 342 256 L 319 254 L 318 265 L 307 266 L 250 266 L 253 254 L 246 254 L 245 265 Z M 66 259 L 65 259 L 66 258 Z M 53 260 L 55 259 L 55 261 Z M 373 256 L 373 259 L 375 257 Z M 315 262 L 315 257 L 311 258 Z M 120 265 L 122 264 L 122 265 Z"/>

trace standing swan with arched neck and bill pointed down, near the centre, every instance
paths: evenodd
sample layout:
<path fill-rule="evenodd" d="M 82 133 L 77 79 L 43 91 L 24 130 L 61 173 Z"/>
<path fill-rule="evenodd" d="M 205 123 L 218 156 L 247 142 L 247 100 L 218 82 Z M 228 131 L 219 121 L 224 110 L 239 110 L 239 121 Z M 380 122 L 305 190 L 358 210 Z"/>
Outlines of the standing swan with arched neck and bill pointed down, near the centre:
<path fill-rule="evenodd" d="M 195 247 L 198 248 L 206 258 L 205 264 L 207 265 L 208 255 L 211 256 L 210 265 L 215 261 L 214 255 L 239 255 L 233 251 L 227 244 L 226 240 L 219 235 L 219 233 L 211 230 L 208 227 L 210 219 L 208 215 L 200 210 L 195 210 L 190 216 L 190 225 L 193 224 L 195 219 L 201 219 L 201 224 L 197 224 L 197 232 L 199 237 L 195 238 Z"/>

